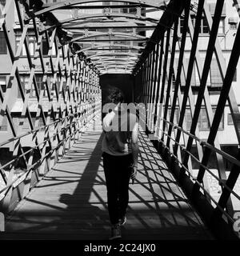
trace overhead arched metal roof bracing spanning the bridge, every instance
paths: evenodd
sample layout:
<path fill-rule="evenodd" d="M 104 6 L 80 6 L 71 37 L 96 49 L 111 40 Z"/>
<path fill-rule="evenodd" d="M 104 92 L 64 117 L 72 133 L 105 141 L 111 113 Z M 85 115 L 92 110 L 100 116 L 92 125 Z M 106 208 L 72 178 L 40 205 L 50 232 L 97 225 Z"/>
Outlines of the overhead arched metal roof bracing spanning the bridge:
<path fill-rule="evenodd" d="M 94 5 L 87 5 L 92 2 Z M 144 44 L 150 40 L 143 34 L 154 30 L 159 22 L 158 18 L 146 17 L 146 13 L 165 10 L 167 2 L 111 1 L 107 5 L 106 2 L 90 0 L 60 1 L 55 4 L 25 1 L 24 5 L 29 10 L 26 12 L 29 16 L 26 21 L 32 17 L 42 19 L 40 33 L 57 28 L 57 34 L 64 34 L 63 38 L 72 44 L 72 48 L 76 48 L 75 52 L 90 59 L 100 74 L 131 74 L 138 54 L 141 54 Z M 146 7 L 152 9 L 146 10 Z M 60 10 L 62 16 L 58 15 Z M 102 66 L 95 65 L 101 59 L 98 56 L 102 54 L 106 57 Z M 126 59 L 126 62 L 121 62 L 121 66 L 116 65 L 113 58 L 117 55 L 118 58 Z M 128 57 L 135 58 L 131 59 L 134 63 L 128 62 Z"/>

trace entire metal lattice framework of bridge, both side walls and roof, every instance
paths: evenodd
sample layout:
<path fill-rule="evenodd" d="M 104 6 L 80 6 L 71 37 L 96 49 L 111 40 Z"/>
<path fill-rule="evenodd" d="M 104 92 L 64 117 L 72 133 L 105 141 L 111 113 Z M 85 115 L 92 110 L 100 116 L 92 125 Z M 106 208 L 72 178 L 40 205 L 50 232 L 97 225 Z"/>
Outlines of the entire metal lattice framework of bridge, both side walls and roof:
<path fill-rule="evenodd" d="M 240 113 L 232 81 L 240 54 L 240 32 L 238 27 L 226 65 L 218 40 L 224 1 L 216 1 L 213 17 L 204 0 L 122 0 L 120 5 L 118 1 L 111 1 L 110 5 L 106 2 L 88 5 L 92 2 L 96 1 L 74 0 L 54 4 L 44 4 L 41 0 L 6 2 L 0 26 L 5 33 L 12 68 L 6 93 L 0 89 L 0 124 L 6 116 L 13 138 L 2 142 L 0 147 L 12 143 L 14 157 L 1 166 L 2 179 L 6 183 L 0 191 L 2 210 L 7 212 L 13 209 L 38 178 L 54 165 L 59 156 L 65 154 L 81 135 L 88 120 L 98 114 L 101 108 L 99 75 L 132 74 L 135 78 L 134 89 L 141 88 L 140 97 L 135 101 L 144 103 L 138 105 L 139 110 L 145 113 L 147 106 L 146 120 L 140 121 L 146 121 L 154 145 L 216 236 L 237 238 L 233 232 L 236 211 L 233 198 L 239 206 L 240 195 L 235 184 L 240 155 L 239 152 L 238 155 L 226 154 L 222 150 L 218 127 L 227 102 L 239 145 Z M 11 28 L 6 22 L 10 15 L 8 10 L 13 4 L 21 30 L 16 53 L 10 42 Z M 238 11 L 239 2 L 234 0 L 233 5 Z M 162 11 L 160 20 L 146 17 L 146 14 L 156 10 Z M 62 16 L 58 15 L 59 11 L 62 11 Z M 190 16 L 193 12 L 194 22 Z M 206 19 L 209 32 L 203 61 L 198 48 L 202 18 Z M 149 38 L 145 34 L 148 30 L 154 30 Z M 34 55 L 30 54 L 28 47 L 29 31 L 34 31 L 37 42 Z M 188 55 L 186 42 L 190 42 L 191 46 Z M 43 43 L 48 46 L 47 54 L 42 52 Z M 26 49 L 29 66 L 29 80 L 25 88 L 18 70 L 22 47 Z M 213 56 L 222 78 L 215 111 L 211 106 L 208 85 Z M 36 79 L 38 62 L 44 82 L 41 88 Z M 191 84 L 195 67 L 199 79 L 197 88 Z M 50 76 L 53 76 L 51 82 L 48 79 Z M 22 98 L 21 117 L 29 123 L 30 131 L 25 134 L 18 134 L 10 112 L 9 102 L 14 86 L 18 86 Z M 38 105 L 35 122 L 30 111 L 32 87 Z M 46 99 L 47 108 L 44 106 Z M 207 140 L 202 139 L 198 128 L 202 107 L 206 110 L 210 127 Z M 190 109 L 190 129 L 187 128 L 186 108 Z M 42 127 L 39 127 L 39 120 L 42 120 Z M 21 128 L 23 123 L 19 126 Z M 32 148 L 24 151 L 22 143 L 28 137 L 31 138 Z M 194 147 L 197 154 L 193 153 Z M 211 154 L 216 157 L 217 171 L 209 166 Z M 228 174 L 225 160 L 232 164 Z M 14 179 L 14 168 L 21 161 L 24 171 L 20 178 Z M 198 163 L 198 170 L 194 170 L 193 161 Z M 211 194 L 209 176 L 221 186 L 217 198 Z"/>

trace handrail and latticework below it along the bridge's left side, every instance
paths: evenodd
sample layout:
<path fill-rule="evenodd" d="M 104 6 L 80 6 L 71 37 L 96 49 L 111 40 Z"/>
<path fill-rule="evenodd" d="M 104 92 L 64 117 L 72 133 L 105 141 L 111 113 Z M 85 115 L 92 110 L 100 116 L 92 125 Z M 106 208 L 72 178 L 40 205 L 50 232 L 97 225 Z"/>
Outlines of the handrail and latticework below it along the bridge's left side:
<path fill-rule="evenodd" d="M 50 123 L 47 126 L 30 130 L 25 134 L 19 135 L 16 138 L 10 138 L 10 140 L 1 143 L 0 148 L 6 146 L 10 142 L 21 143 L 24 139 L 28 140 L 26 137 L 29 137 L 29 135 L 32 138 L 35 138 L 39 133 L 43 133 L 42 129 L 46 131 L 50 129 L 50 126 L 54 126 L 54 131 L 52 131 L 52 134 L 48 138 L 45 138 L 42 142 L 32 146 L 30 150 L 18 154 L 0 167 L 2 178 L 6 183 L 6 186 L 0 190 L 2 211 L 7 212 L 12 210 L 13 206 L 26 196 L 32 187 L 34 187 L 35 182 L 40 180 L 47 171 L 51 170 L 54 164 L 58 162 L 58 159 L 66 154 L 67 150 L 73 146 L 74 142 L 78 141 L 82 133 L 84 133 L 87 124 L 96 118 L 96 115 L 98 115 L 100 111 L 101 102 L 97 102 L 94 111 L 91 110 L 91 106 L 87 106 L 82 112 L 71 114 L 70 116 Z M 55 145 L 53 145 L 54 141 L 56 141 Z M 46 150 L 47 145 L 50 145 L 49 150 Z M 30 161 L 30 158 L 33 158 L 36 153 L 38 153 L 38 158 Z M 21 159 L 28 164 L 26 168 L 21 168 L 20 174 L 14 177 L 16 166 L 18 166 L 18 162 L 21 161 Z M 46 168 L 44 168 L 44 162 L 47 162 Z M 33 174 L 37 176 L 34 178 L 35 182 L 31 180 Z M 28 182 L 26 182 L 27 180 Z M 18 186 L 21 186 L 21 184 L 23 184 L 23 189 L 18 191 L 18 198 L 14 198 L 13 190 L 18 190 Z"/>

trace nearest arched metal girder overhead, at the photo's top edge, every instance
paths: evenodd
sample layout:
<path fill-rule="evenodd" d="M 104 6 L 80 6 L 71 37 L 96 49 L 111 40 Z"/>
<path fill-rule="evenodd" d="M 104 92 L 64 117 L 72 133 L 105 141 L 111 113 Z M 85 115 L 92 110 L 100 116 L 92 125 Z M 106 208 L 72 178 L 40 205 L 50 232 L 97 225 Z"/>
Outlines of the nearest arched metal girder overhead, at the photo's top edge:
<path fill-rule="evenodd" d="M 42 6 L 42 10 L 38 10 L 37 12 L 34 13 L 35 16 L 41 15 L 41 14 L 46 14 L 50 11 L 53 10 L 58 10 L 61 9 L 63 7 L 66 6 L 74 6 L 74 5 L 78 5 L 78 4 L 83 4 L 83 3 L 90 3 L 90 2 L 98 2 L 96 0 L 71 0 L 71 1 L 67 1 L 67 2 L 58 2 L 55 3 L 51 6 Z M 102 1 L 99 1 L 102 2 Z M 114 1 L 108 1 L 108 2 L 119 2 L 118 0 L 114 0 Z M 144 0 L 121 0 L 121 2 L 127 2 L 127 3 L 132 3 L 132 4 L 141 4 L 143 6 L 150 6 L 150 7 L 155 7 L 158 9 L 162 9 L 162 6 L 166 6 L 166 1 L 165 0 L 148 0 L 148 1 L 144 1 Z M 31 6 L 30 6 L 31 7 Z M 46 7 L 46 8 L 43 8 Z"/>

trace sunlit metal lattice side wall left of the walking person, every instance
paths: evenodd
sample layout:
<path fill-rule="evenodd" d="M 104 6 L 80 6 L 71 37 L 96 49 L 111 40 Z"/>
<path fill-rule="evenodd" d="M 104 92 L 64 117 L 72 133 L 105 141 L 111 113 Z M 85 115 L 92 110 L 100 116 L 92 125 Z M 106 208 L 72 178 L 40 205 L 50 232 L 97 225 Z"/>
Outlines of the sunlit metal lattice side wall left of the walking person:
<path fill-rule="evenodd" d="M 10 15 L 14 15 L 13 8 L 17 10 L 21 30 L 16 52 L 10 42 L 12 24 L 7 22 Z M 0 191 L 4 211 L 12 210 L 26 196 L 38 179 L 81 136 L 87 122 L 99 114 L 101 108 L 99 78 L 93 66 L 82 60 L 68 42 L 59 38 L 57 28 L 40 33 L 41 20 L 33 17 L 26 21 L 24 14 L 20 1 L 7 1 L 0 24 L 12 62 L 6 92 L 0 88 L 0 125 L 7 118 L 12 132 L 12 138 L 1 142 L 0 147 L 13 147 L 12 157 L 0 167 L 5 183 Z M 36 39 L 34 54 L 30 53 L 29 34 Z M 23 50 L 26 52 L 24 58 Z M 29 70 L 27 82 L 22 82 L 19 71 L 22 59 Z M 22 107 L 19 109 L 20 121 L 14 122 L 10 102 L 17 87 L 18 102 Z M 28 126 L 28 131 L 22 132 L 23 126 Z M 23 150 L 22 145 L 29 149 Z"/>

